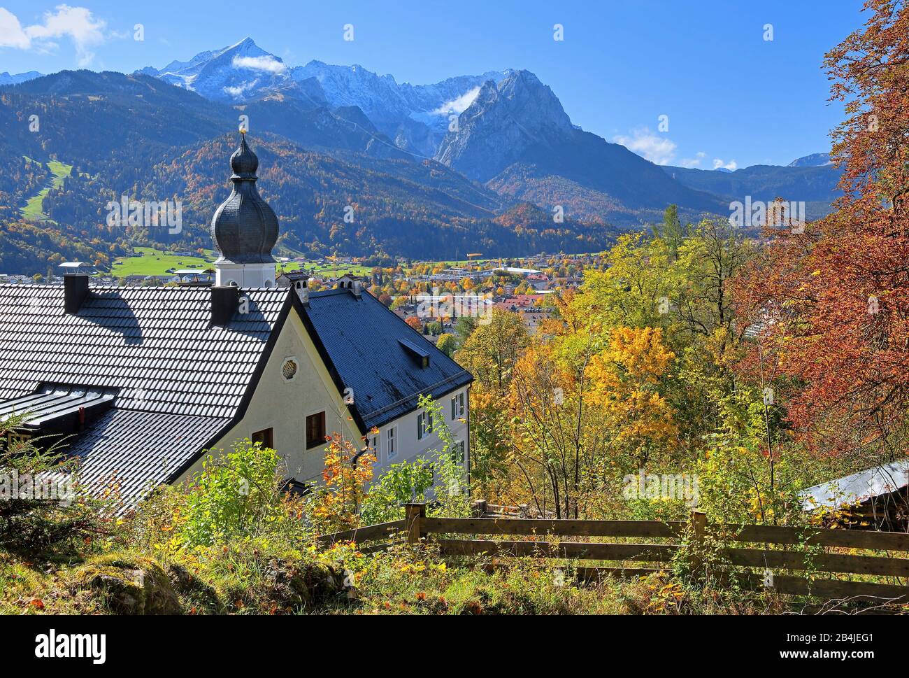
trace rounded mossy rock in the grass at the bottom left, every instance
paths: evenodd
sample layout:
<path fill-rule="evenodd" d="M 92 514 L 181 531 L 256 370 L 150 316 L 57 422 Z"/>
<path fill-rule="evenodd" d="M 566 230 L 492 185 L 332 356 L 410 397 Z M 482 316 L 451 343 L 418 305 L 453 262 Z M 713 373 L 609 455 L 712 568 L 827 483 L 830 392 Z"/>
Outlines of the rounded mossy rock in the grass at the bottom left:
<path fill-rule="evenodd" d="M 170 579 L 150 558 L 110 554 L 95 558 L 72 575 L 74 592 L 100 596 L 115 614 L 179 614 Z"/>

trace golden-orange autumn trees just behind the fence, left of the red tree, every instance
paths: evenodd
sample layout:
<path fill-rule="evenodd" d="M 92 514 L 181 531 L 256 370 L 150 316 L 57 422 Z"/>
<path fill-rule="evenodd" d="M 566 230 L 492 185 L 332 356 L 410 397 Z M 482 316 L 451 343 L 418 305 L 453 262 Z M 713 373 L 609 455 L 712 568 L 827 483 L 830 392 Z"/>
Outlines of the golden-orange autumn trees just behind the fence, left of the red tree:
<path fill-rule="evenodd" d="M 509 461 L 515 483 L 557 518 L 602 515 L 616 484 L 675 436 L 660 392 L 674 359 L 660 329 L 597 328 L 534 342 L 514 369 Z"/>

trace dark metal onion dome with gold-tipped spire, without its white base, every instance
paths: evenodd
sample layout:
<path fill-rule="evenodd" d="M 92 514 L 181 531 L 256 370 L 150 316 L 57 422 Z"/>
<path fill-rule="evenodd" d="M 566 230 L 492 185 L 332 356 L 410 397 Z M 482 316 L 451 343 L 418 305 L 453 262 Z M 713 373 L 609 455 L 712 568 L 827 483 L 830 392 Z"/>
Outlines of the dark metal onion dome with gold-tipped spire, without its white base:
<path fill-rule="evenodd" d="M 230 157 L 230 167 L 234 190 L 212 218 L 212 239 L 221 253 L 215 263 L 273 264 L 278 218 L 255 187 L 259 158 L 246 146 L 245 135 Z"/>

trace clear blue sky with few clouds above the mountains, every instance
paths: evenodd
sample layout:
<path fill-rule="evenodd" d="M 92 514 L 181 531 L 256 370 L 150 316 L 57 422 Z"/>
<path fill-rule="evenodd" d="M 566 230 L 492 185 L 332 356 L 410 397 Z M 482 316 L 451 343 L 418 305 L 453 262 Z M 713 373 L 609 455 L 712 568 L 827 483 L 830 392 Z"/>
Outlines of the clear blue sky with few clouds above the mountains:
<path fill-rule="evenodd" d="M 0 72 L 132 72 L 247 35 L 289 66 L 359 64 L 414 84 L 526 68 L 575 124 L 661 164 L 707 169 L 828 150 L 842 108 L 826 101 L 821 62 L 864 21 L 859 0 L 71 2 L 0 0 Z"/>

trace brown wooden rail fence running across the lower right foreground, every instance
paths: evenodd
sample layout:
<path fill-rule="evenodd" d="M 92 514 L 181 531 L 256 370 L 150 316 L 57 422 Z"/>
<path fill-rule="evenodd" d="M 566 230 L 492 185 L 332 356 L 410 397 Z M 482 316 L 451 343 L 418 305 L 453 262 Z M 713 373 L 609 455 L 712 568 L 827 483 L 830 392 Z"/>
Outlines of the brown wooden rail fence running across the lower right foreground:
<path fill-rule="evenodd" d="M 319 537 L 334 541 L 387 540 L 405 533 L 412 544 L 432 543 L 445 557 L 491 556 L 496 562 L 509 557 L 579 561 L 621 562 L 618 567 L 580 567 L 584 579 L 598 576 L 635 577 L 666 569 L 681 548 L 679 541 L 689 525 L 691 540 L 702 542 L 717 535 L 734 545 L 721 548 L 724 560 L 744 568 L 744 580 L 764 587 L 764 575 L 773 573 L 775 592 L 813 595 L 826 599 L 872 597 L 909 602 L 909 559 L 892 552 L 909 552 L 909 534 L 902 532 L 794 528 L 774 525 L 707 524 L 704 513 L 693 512 L 691 521 L 572 521 L 524 518 L 429 518 L 425 504 L 405 504 L 403 521 L 385 522 Z M 497 539 L 476 539 L 493 535 Z M 518 539 L 508 539 L 517 537 Z M 563 538 L 622 538 L 638 542 L 564 541 Z M 504 539 L 503 539 L 504 538 Z M 660 540 L 654 543 L 653 540 Z M 757 544 L 757 547 L 747 544 Z M 774 548 L 775 547 L 775 548 Z M 790 548 L 787 548 L 790 547 Z M 793 549 L 791 547 L 797 547 Z M 375 551 L 382 546 L 366 551 Z M 693 549 L 692 553 L 700 552 Z M 857 554 L 870 551 L 874 554 Z M 625 562 L 634 566 L 627 567 Z M 645 563 L 639 566 L 638 563 Z M 759 572 L 753 572 L 757 568 Z M 786 572 L 802 572 L 794 576 Z M 818 579 L 819 572 L 874 577 L 875 582 Z"/>

